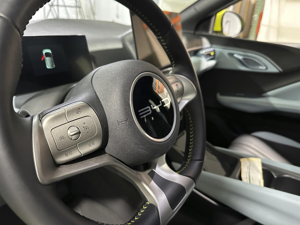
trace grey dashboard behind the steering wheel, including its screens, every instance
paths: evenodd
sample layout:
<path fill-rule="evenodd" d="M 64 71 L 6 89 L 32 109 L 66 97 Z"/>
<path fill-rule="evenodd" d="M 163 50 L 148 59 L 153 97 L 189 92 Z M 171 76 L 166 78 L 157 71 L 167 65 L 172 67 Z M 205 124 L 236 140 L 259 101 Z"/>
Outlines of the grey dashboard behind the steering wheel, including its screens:
<path fill-rule="evenodd" d="M 178 14 L 170 16 L 178 18 Z M 154 35 L 134 15 L 132 24 L 133 27 L 115 22 L 74 19 L 29 23 L 22 37 L 23 68 L 13 99 L 15 111 L 29 116 L 51 108 L 61 102 L 45 103 L 41 98 L 43 92 L 53 91 L 55 95 L 55 88 L 64 85 L 67 94 L 93 69 L 121 60 L 144 60 L 168 73 L 170 62 Z M 173 25 L 181 27 L 181 24 Z M 206 57 L 207 50 L 211 53 L 206 38 L 195 38 L 185 32 L 179 35 L 198 74 L 214 66 L 214 58 Z M 38 96 L 43 106 L 32 107 Z"/>

